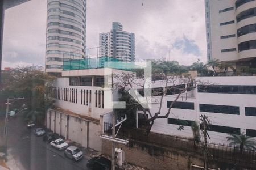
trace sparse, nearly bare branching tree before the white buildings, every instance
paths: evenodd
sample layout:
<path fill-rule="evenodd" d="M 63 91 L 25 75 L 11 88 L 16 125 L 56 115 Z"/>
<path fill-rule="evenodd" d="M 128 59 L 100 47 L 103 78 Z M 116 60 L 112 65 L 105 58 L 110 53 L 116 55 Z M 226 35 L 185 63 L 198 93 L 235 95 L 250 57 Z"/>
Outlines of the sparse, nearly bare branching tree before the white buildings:
<path fill-rule="evenodd" d="M 127 93 L 125 94 L 125 97 L 129 96 L 128 94 L 129 89 L 132 89 L 133 86 L 139 86 L 141 87 L 141 90 L 138 90 L 138 92 L 141 96 L 144 97 L 143 99 L 144 105 L 151 103 L 152 100 L 156 103 L 159 103 L 158 109 L 156 111 L 152 111 L 151 109 L 148 109 L 148 108 L 143 108 L 142 105 L 139 104 L 140 102 L 137 102 L 137 101 L 142 101 L 142 99 L 139 99 L 139 95 L 136 95 L 135 91 L 131 91 L 131 93 L 133 94 L 136 100 L 129 100 L 129 105 L 126 105 L 127 111 L 123 109 L 123 112 L 129 112 L 131 109 L 138 108 L 140 111 L 143 112 L 142 114 L 143 114 L 144 124 L 143 126 L 141 126 L 141 129 L 145 130 L 147 135 L 150 133 L 155 120 L 168 118 L 170 116 L 171 108 L 174 105 L 174 103 L 179 99 L 181 94 L 184 94 L 184 92 L 186 92 L 190 88 L 196 87 L 196 84 L 201 84 L 200 80 L 195 80 L 188 76 L 186 78 L 183 78 L 183 77 L 179 78 L 179 82 L 183 82 L 184 84 L 187 84 L 187 86 L 180 86 L 180 85 L 178 86 L 178 85 L 175 85 L 177 80 L 177 77 L 175 75 L 172 75 L 172 76 L 161 75 L 161 76 L 162 77 L 160 79 L 163 80 L 162 85 L 164 88 L 151 89 L 152 96 L 156 96 L 152 98 L 151 96 L 144 95 L 144 90 L 147 84 L 143 83 L 144 81 L 141 81 L 143 80 L 142 78 L 136 78 L 135 76 L 131 74 L 126 74 L 126 73 L 113 75 L 116 81 L 116 83 L 113 83 L 113 88 L 118 90 L 122 88 L 123 90 L 125 90 L 125 92 Z M 167 111 L 162 111 L 162 108 L 164 107 L 163 99 L 167 93 L 173 93 L 173 94 L 176 94 L 176 96 L 175 96 L 175 99 L 170 104 Z M 124 101 L 124 100 L 119 100 L 119 101 Z M 127 99 L 125 101 L 127 101 Z M 180 130 L 182 130 L 182 127 L 180 127 Z"/>

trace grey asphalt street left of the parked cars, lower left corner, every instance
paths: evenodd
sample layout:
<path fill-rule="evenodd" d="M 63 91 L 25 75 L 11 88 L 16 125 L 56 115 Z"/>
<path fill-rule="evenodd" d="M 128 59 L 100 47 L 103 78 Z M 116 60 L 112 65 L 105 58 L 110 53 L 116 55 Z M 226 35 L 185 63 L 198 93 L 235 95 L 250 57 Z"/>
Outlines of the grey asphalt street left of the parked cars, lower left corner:
<path fill-rule="evenodd" d="M 8 151 L 14 158 L 20 170 L 65 170 L 65 169 L 88 169 L 84 151 L 84 158 L 79 162 L 64 157 L 64 151 L 56 150 L 43 141 L 43 137 L 36 137 L 28 129 L 22 114 L 9 118 L 8 125 Z"/>

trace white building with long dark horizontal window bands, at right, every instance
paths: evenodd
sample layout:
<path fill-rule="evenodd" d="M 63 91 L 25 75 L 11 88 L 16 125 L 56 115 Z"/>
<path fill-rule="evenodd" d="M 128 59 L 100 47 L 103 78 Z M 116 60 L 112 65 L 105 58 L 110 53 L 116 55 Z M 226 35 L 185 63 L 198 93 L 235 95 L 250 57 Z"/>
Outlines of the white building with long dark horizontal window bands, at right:
<path fill-rule="evenodd" d="M 210 121 L 208 133 L 211 142 L 228 144 L 226 137 L 229 133 L 245 133 L 256 137 L 255 77 L 196 79 L 200 79 L 202 84 L 181 95 L 173 105 L 169 117 L 156 119 L 151 131 L 192 138 L 192 121 L 199 124 L 200 116 L 205 115 Z M 204 82 L 208 85 L 204 86 Z M 160 116 L 167 113 L 175 97 L 176 95 L 164 96 Z M 159 106 L 160 103 L 153 103 L 151 113 L 156 113 Z M 138 113 L 143 114 L 142 111 Z M 179 126 L 184 126 L 184 130 L 177 130 Z"/>

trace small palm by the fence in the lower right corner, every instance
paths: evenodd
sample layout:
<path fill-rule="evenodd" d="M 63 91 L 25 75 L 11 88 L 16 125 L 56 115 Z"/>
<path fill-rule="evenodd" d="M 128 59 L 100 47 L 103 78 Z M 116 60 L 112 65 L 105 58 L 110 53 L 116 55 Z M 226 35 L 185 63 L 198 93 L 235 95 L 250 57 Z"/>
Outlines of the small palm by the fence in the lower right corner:
<path fill-rule="evenodd" d="M 242 133 L 240 135 L 229 134 L 229 137 L 226 137 L 226 139 L 227 141 L 230 141 L 229 146 L 240 147 L 240 154 L 242 154 L 244 148 L 256 148 L 256 141 L 253 139 L 253 137 L 246 136 L 245 133 Z"/>

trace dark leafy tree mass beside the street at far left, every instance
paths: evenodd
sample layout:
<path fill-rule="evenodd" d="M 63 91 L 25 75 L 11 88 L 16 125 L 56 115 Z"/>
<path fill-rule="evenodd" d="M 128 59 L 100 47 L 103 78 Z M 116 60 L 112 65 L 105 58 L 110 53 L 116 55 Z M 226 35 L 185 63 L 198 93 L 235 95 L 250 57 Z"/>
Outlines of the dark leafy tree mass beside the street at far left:
<path fill-rule="evenodd" d="M 28 67 L 13 69 L 9 76 L 3 79 L 3 88 L 0 90 L 1 101 L 11 97 L 24 97 L 26 103 L 26 118 L 42 122 L 46 109 L 52 107 L 53 99 L 50 96 L 54 77 L 42 71 L 30 70 Z"/>

